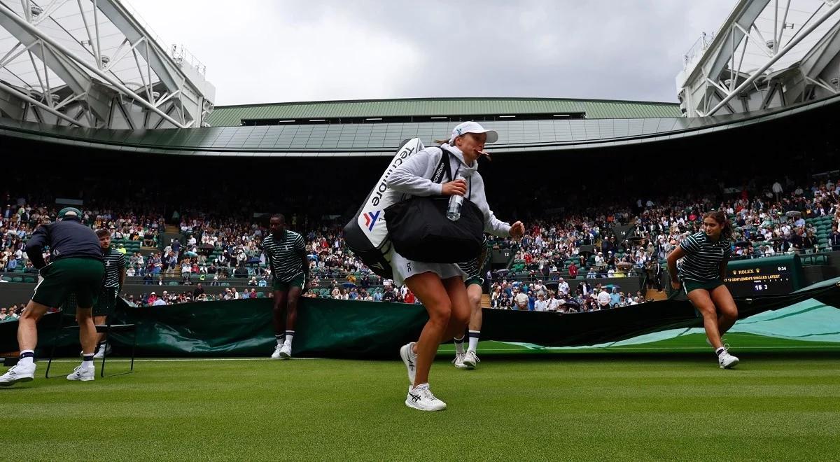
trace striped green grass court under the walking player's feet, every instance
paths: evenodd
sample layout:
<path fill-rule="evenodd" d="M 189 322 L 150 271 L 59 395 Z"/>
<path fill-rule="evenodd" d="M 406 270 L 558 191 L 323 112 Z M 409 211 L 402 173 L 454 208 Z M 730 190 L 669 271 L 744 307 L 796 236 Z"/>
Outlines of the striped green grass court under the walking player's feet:
<path fill-rule="evenodd" d="M 551 353 L 486 342 L 472 371 L 455 370 L 444 346 L 432 381 L 444 412 L 404 406 L 396 352 L 392 361 L 144 360 L 134 375 L 0 389 L 3 459 L 840 457 L 838 345 L 727 339 L 742 359 L 736 370 L 718 369 L 698 335 Z"/>

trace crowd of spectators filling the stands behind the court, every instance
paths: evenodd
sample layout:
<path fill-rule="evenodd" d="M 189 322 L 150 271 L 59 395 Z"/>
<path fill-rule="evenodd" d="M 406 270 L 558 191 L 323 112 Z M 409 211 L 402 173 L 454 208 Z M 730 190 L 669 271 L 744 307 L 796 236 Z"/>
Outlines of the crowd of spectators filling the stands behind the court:
<path fill-rule="evenodd" d="M 729 189 L 719 185 L 704 194 L 646 197 L 625 207 L 617 204 L 626 204 L 626 198 L 547 212 L 527 223 L 520 241 L 491 241 L 496 249 L 510 248 L 513 253 L 512 267 L 486 275 L 491 305 L 521 308 L 526 304 L 534 311 L 580 312 L 641 303 L 641 293 L 592 280 L 643 276 L 648 288 L 659 288 L 666 255 L 686 235 L 699 231 L 703 213 L 712 209 L 724 210 L 732 218 L 738 258 L 840 249 L 838 197 L 837 177 L 821 177 L 807 187 L 785 177 Z M 0 275 L 36 272 L 25 254 L 25 243 L 40 223 L 55 219 L 60 207 L 46 204 L 49 201 L 44 197 L 12 192 L 0 196 Z M 247 216 L 241 211 L 222 215 L 192 208 L 179 213 L 155 210 L 140 201 L 81 209 L 83 223 L 111 230 L 113 242 L 126 254 L 131 281 L 159 286 L 140 297 L 127 295 L 131 302 L 155 306 L 270 296 L 270 268 L 260 249 L 267 235 L 266 216 Z M 819 235 L 811 218 L 822 217 L 830 218 L 831 230 Z M 381 281 L 349 251 L 337 217 L 314 220 L 291 214 L 286 222 L 302 232 L 307 243 L 312 280 L 306 297 L 417 302 L 406 288 Z M 177 239 L 164 239 L 167 223 Z M 619 230 L 626 234 L 617 234 Z M 49 260 L 49 251 L 45 258 Z M 196 288 L 178 293 L 168 287 L 163 290 L 172 281 Z M 239 291 L 234 282 L 248 289 Z M 225 288 L 220 295 L 208 295 L 202 284 Z M 609 302 L 603 303 L 606 298 Z M 19 309 L 6 308 L 0 320 L 11 318 Z"/>

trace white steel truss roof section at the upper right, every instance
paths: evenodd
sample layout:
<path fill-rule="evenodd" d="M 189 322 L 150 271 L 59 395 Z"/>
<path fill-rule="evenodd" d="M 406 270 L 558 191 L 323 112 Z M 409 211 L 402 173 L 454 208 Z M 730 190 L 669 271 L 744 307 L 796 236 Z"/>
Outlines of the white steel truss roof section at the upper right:
<path fill-rule="evenodd" d="M 741 0 L 685 55 L 676 83 L 688 117 L 782 108 L 837 94 L 840 2 Z M 833 63 L 833 64 L 832 64 Z"/>

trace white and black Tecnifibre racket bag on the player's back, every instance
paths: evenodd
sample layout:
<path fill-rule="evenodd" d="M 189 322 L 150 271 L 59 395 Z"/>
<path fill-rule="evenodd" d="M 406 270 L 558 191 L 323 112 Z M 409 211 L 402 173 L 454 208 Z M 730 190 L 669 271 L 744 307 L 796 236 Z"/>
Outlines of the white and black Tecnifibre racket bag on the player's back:
<path fill-rule="evenodd" d="M 385 209 L 402 200 L 402 192 L 388 188 L 388 176 L 402 162 L 424 148 L 419 138 L 404 141 L 365 203 L 344 227 L 344 242 L 347 246 L 370 270 L 386 279 L 393 279 L 394 276 L 388 256 L 391 252 L 391 239 L 388 239 L 388 228 L 385 225 Z"/>

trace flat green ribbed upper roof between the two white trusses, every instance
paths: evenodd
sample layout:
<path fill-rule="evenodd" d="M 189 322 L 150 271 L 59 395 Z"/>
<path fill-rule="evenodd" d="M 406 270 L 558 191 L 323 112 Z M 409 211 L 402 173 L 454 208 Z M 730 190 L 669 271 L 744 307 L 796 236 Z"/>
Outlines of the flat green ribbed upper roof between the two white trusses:
<path fill-rule="evenodd" d="M 671 102 L 611 101 L 538 97 L 454 97 L 277 102 L 217 106 L 207 117 L 213 127 L 318 122 L 406 122 L 514 118 L 679 117 Z M 323 119 L 323 120 L 322 120 Z"/>

